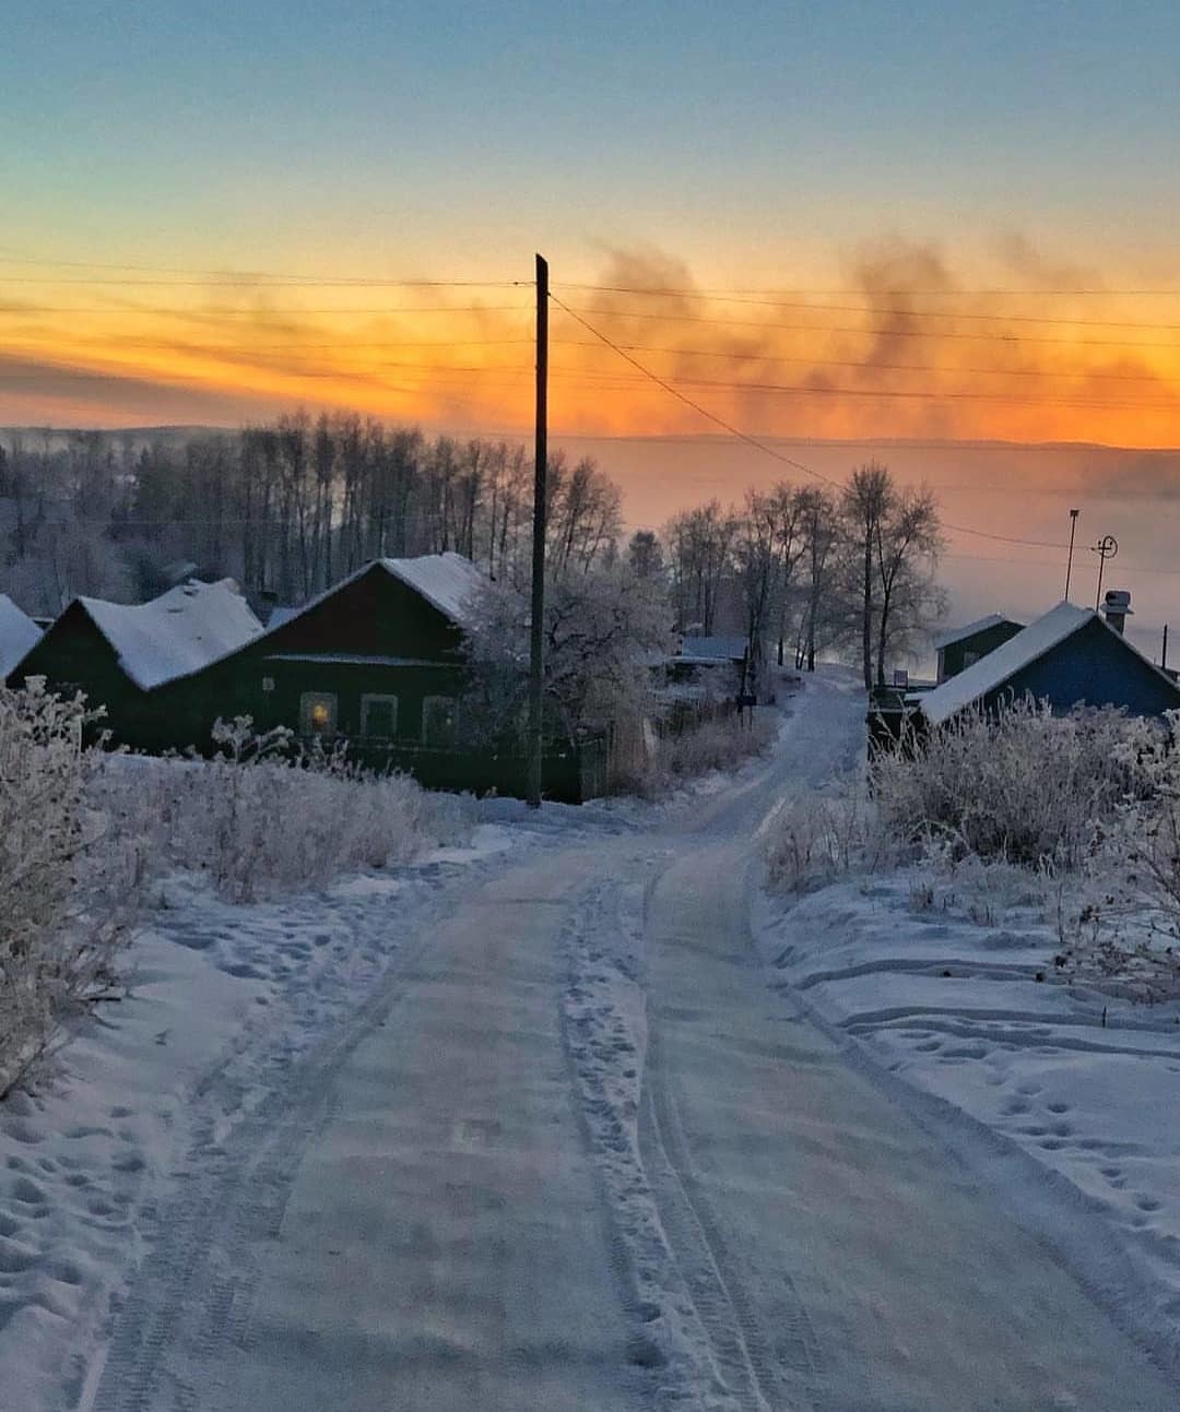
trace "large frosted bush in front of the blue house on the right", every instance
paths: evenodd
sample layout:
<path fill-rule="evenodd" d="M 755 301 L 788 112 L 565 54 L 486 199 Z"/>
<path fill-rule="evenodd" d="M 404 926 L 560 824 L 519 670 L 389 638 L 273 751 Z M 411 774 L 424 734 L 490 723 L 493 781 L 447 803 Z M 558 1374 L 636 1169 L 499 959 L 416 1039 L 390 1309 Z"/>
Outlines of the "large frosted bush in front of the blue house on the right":
<path fill-rule="evenodd" d="M 1032 867 L 1078 868 L 1129 798 L 1150 791 L 1157 729 L 1115 710 L 1053 716 L 1030 699 L 964 713 L 871 765 L 879 827 Z"/>

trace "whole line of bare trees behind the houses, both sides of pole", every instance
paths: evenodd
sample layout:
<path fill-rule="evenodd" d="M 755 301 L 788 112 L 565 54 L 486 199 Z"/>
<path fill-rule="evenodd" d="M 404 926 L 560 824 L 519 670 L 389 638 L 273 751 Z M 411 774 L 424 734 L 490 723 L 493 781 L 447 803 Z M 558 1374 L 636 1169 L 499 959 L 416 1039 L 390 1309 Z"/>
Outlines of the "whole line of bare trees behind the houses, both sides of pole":
<path fill-rule="evenodd" d="M 866 688 L 944 609 L 928 490 L 869 463 L 844 487 L 748 490 L 623 539 L 622 494 L 589 459 L 548 467 L 554 583 L 646 580 L 668 627 L 749 637 L 756 672 L 861 659 Z M 232 576 L 259 604 L 298 604 L 367 561 L 458 551 L 529 582 L 524 448 L 427 436 L 352 414 L 237 432 L 11 435 L 0 445 L 0 590 L 54 616 L 78 594 L 141 602 L 177 578 Z M 644 602 L 650 600 L 650 594 Z"/>

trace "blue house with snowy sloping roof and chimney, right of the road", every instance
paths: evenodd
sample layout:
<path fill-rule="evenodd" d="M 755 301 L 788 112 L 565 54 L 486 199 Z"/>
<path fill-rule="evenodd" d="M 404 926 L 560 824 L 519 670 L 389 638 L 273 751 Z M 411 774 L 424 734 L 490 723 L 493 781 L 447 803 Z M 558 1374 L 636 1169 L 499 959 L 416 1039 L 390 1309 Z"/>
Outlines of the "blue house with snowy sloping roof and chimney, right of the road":
<path fill-rule="evenodd" d="M 962 710 L 996 710 L 1022 696 L 1074 706 L 1118 706 L 1132 716 L 1180 707 L 1180 686 L 1118 628 L 1090 609 L 1058 603 L 978 662 L 914 702 L 919 722 L 940 726 Z"/>

